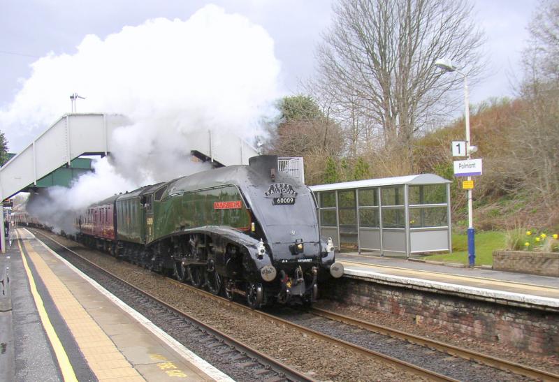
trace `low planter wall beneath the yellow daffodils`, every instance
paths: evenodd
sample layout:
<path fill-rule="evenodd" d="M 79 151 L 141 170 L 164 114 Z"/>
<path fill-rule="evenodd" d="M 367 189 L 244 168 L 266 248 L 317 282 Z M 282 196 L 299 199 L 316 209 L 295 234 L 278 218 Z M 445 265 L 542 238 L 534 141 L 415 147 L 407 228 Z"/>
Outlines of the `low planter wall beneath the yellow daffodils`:
<path fill-rule="evenodd" d="M 493 251 L 493 269 L 559 277 L 559 253 Z"/>

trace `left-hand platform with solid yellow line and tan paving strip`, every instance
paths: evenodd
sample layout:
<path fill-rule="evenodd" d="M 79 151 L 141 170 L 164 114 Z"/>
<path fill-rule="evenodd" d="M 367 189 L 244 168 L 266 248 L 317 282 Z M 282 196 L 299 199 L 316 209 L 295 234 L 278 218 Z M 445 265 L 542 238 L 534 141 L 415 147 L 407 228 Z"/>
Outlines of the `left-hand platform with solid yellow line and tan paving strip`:
<path fill-rule="evenodd" d="M 28 230 L 0 254 L 0 381 L 232 381 Z"/>

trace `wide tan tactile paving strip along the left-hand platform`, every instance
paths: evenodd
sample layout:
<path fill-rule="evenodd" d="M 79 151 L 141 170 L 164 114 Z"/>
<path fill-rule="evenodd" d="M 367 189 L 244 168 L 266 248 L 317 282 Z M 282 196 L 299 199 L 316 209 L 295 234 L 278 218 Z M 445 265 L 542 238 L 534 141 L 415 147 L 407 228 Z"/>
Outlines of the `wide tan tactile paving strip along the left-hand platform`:
<path fill-rule="evenodd" d="M 145 381 L 31 244 L 26 241 L 24 246 L 89 368 L 99 381 Z"/>

